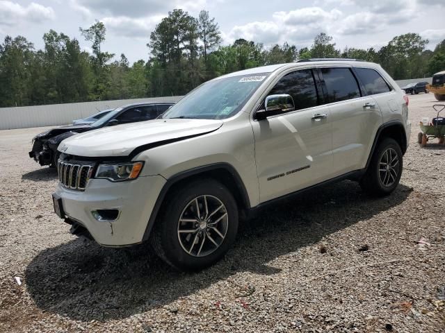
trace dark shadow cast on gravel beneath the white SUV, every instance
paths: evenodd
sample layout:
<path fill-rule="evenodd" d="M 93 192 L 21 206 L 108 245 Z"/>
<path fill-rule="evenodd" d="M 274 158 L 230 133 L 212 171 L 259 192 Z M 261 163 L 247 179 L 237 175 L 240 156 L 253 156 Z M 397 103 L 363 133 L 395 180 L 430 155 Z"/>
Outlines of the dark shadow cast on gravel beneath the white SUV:
<path fill-rule="evenodd" d="M 242 223 L 226 258 L 200 273 L 173 271 L 144 244 L 113 249 L 76 239 L 39 253 L 26 268 L 26 284 L 42 310 L 79 321 L 127 318 L 237 272 L 273 275 L 270 260 L 399 205 L 410 191 L 399 185 L 387 198 L 368 198 L 348 181 L 307 191 Z"/>

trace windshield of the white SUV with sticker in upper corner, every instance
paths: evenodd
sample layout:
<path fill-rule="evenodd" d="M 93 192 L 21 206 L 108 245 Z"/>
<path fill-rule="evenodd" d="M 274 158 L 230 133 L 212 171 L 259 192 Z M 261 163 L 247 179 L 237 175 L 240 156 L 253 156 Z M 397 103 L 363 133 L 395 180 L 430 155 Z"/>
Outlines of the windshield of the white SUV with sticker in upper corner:
<path fill-rule="evenodd" d="M 204 83 L 168 109 L 161 118 L 225 119 L 236 114 L 269 74 L 220 78 Z"/>

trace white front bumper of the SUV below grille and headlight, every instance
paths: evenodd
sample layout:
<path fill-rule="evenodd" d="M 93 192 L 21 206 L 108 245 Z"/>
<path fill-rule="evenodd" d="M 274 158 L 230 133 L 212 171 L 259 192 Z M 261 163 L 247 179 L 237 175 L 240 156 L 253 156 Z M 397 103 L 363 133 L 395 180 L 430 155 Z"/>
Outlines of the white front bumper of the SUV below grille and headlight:
<path fill-rule="evenodd" d="M 68 223 L 78 223 L 103 246 L 129 246 L 143 241 L 149 217 L 165 179 L 162 176 L 139 177 L 129 182 L 92 179 L 85 191 L 56 188 L 62 199 Z M 95 210 L 119 210 L 115 221 L 99 221 Z M 75 232 L 73 232 L 75 234 Z"/>

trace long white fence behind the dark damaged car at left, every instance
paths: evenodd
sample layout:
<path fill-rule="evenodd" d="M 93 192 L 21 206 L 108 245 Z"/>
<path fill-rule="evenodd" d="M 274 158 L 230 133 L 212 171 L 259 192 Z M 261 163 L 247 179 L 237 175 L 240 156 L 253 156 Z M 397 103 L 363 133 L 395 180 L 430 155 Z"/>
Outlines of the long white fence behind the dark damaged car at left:
<path fill-rule="evenodd" d="M 72 123 L 74 119 L 83 119 L 97 111 L 117 108 L 120 105 L 138 102 L 176 102 L 179 99 L 181 96 L 0 108 L 0 130 L 65 125 Z"/>

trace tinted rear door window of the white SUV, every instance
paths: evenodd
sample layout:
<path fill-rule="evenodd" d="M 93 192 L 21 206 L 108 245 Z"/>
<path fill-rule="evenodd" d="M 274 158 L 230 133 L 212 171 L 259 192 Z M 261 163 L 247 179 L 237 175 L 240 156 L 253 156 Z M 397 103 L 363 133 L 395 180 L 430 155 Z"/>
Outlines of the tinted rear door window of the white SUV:
<path fill-rule="evenodd" d="M 322 68 L 329 103 L 355 99 L 360 96 L 357 80 L 348 68 Z"/>

